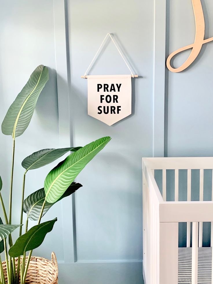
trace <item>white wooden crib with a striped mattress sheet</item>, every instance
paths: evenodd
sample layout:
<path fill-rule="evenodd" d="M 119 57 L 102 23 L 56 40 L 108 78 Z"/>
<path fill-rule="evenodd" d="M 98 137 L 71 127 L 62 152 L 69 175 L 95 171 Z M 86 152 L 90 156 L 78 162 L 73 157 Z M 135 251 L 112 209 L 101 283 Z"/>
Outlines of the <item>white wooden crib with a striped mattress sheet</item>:
<path fill-rule="evenodd" d="M 179 201 L 181 169 L 187 171 L 187 201 Z M 191 201 L 194 169 L 199 169 L 199 201 Z M 213 169 L 213 157 L 143 158 L 143 274 L 146 284 L 213 284 L 212 248 L 202 248 L 203 222 L 211 222 L 211 247 L 213 235 L 213 201 L 203 201 L 206 169 Z M 155 170 L 162 170 L 162 195 Z M 167 170 L 175 172 L 175 201 L 166 201 Z M 179 222 L 187 222 L 186 248 L 178 248 Z M 187 268 L 184 265 L 188 265 Z"/>

